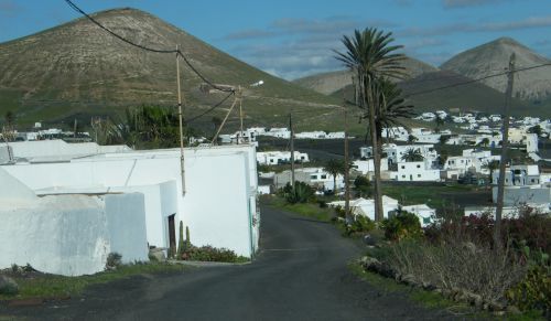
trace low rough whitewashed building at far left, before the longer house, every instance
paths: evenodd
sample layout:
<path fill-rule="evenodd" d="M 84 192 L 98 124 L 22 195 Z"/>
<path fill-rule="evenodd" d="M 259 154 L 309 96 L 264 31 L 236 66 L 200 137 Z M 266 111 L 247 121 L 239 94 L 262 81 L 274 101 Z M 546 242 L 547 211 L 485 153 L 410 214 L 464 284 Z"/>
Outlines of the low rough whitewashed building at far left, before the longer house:
<path fill-rule="evenodd" d="M 44 195 L 0 168 L 0 269 L 30 264 L 66 276 L 104 270 L 110 253 L 148 260 L 140 193 Z"/>

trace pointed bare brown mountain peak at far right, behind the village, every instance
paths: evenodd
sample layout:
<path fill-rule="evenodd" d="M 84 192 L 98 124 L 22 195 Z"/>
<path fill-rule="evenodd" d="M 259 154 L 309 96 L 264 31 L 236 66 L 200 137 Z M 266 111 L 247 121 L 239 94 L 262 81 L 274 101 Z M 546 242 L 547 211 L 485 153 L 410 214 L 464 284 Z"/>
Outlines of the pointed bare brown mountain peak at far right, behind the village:
<path fill-rule="evenodd" d="M 511 53 L 516 55 L 516 67 L 549 64 L 551 60 L 536 54 L 527 46 L 510 38 L 500 38 L 472 50 L 460 53 L 442 64 L 441 69 L 476 79 L 505 71 Z M 521 99 L 541 100 L 551 96 L 551 66 L 518 73 L 514 93 Z M 505 93 L 507 77 L 482 81 L 485 85 Z"/>

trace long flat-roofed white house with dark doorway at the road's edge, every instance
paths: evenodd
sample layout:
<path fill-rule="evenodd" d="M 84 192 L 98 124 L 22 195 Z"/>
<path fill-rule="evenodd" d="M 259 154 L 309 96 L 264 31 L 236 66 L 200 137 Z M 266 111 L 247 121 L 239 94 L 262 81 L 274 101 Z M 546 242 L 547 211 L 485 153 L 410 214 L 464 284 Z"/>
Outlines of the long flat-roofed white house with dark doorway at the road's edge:
<path fill-rule="evenodd" d="M 36 193 L 142 193 L 150 245 L 175 246 L 182 221 L 194 245 L 253 256 L 260 222 L 255 147 L 186 148 L 184 173 L 180 158 L 180 149 L 143 150 L 2 168 Z"/>

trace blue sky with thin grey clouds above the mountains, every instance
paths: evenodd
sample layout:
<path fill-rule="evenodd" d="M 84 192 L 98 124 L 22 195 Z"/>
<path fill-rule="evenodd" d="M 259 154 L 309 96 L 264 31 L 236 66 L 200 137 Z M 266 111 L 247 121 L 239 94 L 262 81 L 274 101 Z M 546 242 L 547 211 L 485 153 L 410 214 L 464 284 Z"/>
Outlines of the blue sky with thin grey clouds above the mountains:
<path fill-rule="evenodd" d="M 439 66 L 512 38 L 551 57 L 551 0 L 73 0 L 86 12 L 150 12 L 276 76 L 342 69 L 343 35 L 378 28 L 412 57 Z M 0 0 L 0 42 L 78 18 L 64 0 Z"/>

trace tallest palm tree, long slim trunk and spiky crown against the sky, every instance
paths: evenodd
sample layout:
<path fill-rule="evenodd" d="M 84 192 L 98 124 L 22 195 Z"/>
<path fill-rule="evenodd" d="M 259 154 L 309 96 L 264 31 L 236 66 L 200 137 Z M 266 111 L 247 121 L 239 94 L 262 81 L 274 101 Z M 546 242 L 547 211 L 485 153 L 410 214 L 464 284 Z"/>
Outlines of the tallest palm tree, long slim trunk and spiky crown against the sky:
<path fill-rule="evenodd" d="M 356 105 L 368 110 L 369 130 L 374 150 L 375 163 L 375 217 L 382 221 L 382 194 L 380 183 L 380 154 L 377 142 L 376 108 L 385 95 L 380 95 L 382 79 L 403 78 L 406 76 L 401 62 L 403 54 L 396 53 L 401 45 L 391 45 L 392 34 L 383 33 L 376 28 L 355 30 L 353 36 L 343 36 L 346 53 L 336 52 L 336 58 L 353 72 L 356 85 Z M 385 100 L 385 99 L 383 99 Z M 385 104 L 386 105 L 386 104 Z M 377 108 L 378 109 L 378 108 Z"/>

